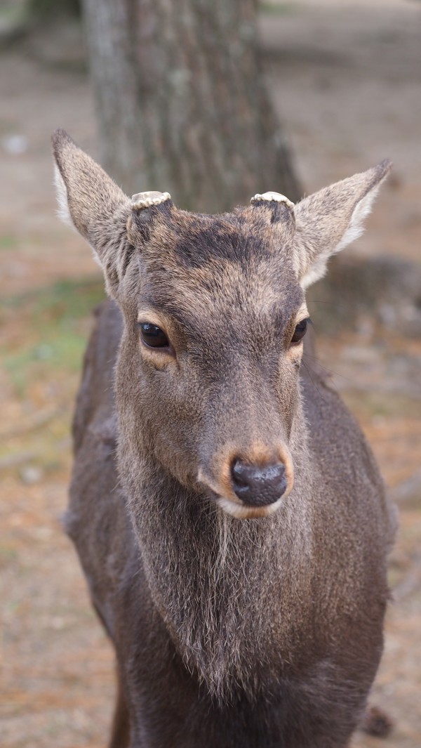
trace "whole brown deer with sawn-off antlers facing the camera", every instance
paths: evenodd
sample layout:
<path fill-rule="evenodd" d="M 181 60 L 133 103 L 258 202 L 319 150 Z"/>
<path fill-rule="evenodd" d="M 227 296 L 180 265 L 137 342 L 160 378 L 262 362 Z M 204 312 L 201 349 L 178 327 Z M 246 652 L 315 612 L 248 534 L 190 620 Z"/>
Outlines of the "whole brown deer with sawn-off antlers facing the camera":
<path fill-rule="evenodd" d="M 306 291 L 390 162 L 220 215 L 131 199 L 64 130 L 61 217 L 102 266 L 65 527 L 114 644 L 111 748 L 345 748 L 396 518 L 316 367 Z M 307 333 L 307 335 L 306 335 Z M 310 362 L 310 359 L 309 359 Z"/>

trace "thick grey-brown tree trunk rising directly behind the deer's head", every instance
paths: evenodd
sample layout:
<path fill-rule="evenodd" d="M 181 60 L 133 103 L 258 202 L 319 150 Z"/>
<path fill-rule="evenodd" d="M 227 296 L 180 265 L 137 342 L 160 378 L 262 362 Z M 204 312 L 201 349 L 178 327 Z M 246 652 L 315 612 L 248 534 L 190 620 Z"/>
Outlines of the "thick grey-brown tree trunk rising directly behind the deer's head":
<path fill-rule="evenodd" d="M 84 0 L 102 162 L 218 212 L 301 189 L 265 91 L 255 0 Z"/>

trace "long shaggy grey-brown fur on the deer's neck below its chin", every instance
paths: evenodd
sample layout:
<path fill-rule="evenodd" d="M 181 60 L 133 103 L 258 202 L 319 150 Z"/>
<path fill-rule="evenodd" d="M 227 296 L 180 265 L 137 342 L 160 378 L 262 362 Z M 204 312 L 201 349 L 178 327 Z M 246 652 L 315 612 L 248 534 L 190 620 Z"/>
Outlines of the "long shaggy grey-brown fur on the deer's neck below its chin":
<path fill-rule="evenodd" d="M 253 698 L 270 687 L 311 619 L 304 420 L 295 430 L 295 488 L 285 506 L 258 520 L 232 518 L 180 485 L 147 450 L 140 456 L 124 438 L 120 444 L 120 472 L 153 601 L 185 665 L 220 700 L 238 688 Z"/>

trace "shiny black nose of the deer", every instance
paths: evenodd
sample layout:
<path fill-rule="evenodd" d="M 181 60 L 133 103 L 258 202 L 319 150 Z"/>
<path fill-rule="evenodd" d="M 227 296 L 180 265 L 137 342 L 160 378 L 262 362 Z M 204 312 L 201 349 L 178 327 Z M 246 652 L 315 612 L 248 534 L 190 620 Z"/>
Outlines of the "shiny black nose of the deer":
<path fill-rule="evenodd" d="M 251 506 L 266 506 L 277 501 L 286 490 L 285 465 L 250 465 L 235 460 L 231 468 L 236 496 Z"/>

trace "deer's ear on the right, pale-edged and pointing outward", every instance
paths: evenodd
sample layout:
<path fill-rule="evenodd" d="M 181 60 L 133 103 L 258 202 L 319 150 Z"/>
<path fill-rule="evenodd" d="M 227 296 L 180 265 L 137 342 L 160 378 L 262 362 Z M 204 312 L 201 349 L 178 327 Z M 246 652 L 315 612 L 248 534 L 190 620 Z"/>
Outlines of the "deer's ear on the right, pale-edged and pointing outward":
<path fill-rule="evenodd" d="M 390 171 L 385 160 L 304 197 L 295 206 L 295 268 L 306 289 L 325 275 L 329 257 L 363 233 L 363 221 Z"/>

